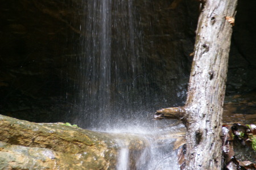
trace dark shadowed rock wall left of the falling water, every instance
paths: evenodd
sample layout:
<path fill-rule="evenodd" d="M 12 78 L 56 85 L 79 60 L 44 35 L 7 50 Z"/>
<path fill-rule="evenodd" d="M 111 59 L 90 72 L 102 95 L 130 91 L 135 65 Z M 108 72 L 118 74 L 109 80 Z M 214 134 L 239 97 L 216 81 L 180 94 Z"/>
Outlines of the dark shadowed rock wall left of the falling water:
<path fill-rule="evenodd" d="M 5 1 L 0 10 L 1 113 L 57 121 L 69 107 L 64 89 L 71 84 L 64 82 L 72 78 L 79 7 L 75 1 Z"/>

